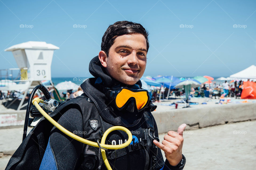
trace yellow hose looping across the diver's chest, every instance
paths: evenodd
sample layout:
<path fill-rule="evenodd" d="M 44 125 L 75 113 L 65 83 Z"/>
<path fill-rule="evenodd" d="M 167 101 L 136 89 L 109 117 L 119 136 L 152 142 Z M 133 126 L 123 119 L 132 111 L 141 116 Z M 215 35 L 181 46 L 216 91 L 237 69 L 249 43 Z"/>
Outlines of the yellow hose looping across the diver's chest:
<path fill-rule="evenodd" d="M 38 103 L 43 103 L 43 100 L 42 99 L 39 99 L 38 97 L 36 97 L 35 99 L 33 99 L 32 103 L 35 105 L 35 107 L 38 109 L 38 111 L 40 113 L 42 113 L 42 115 L 49 121 L 51 122 L 51 124 L 53 124 L 56 128 L 58 128 L 60 131 L 62 131 L 63 133 L 65 133 L 66 135 L 68 135 L 69 137 L 79 141 L 79 142 L 82 142 L 82 143 L 85 143 L 87 145 L 91 145 L 91 146 L 94 146 L 94 147 L 99 147 L 98 143 L 97 142 L 92 142 L 92 141 L 89 141 L 89 140 L 86 140 L 84 138 L 81 138 L 73 133 L 71 133 L 70 131 L 68 131 L 67 129 L 63 128 L 60 124 L 58 124 L 55 120 L 53 120 L 53 118 L 51 118 L 40 106 Z M 105 141 L 106 141 L 106 138 L 107 138 L 107 135 L 111 132 L 111 131 L 114 131 L 114 130 L 122 130 L 124 131 L 125 133 L 127 133 L 128 135 L 128 140 L 121 144 L 121 145 L 106 145 L 105 144 Z M 105 131 L 105 133 L 103 134 L 102 136 L 102 139 L 101 139 L 101 143 L 100 143 L 100 146 L 102 148 L 106 148 L 106 149 L 121 149 L 121 148 L 124 148 L 126 146 L 128 146 L 131 141 L 132 141 L 132 135 L 131 135 L 131 132 L 123 127 L 123 126 L 113 126 L 109 129 L 107 129 Z M 103 161 L 107 167 L 108 170 L 112 170 L 112 168 L 110 167 L 109 165 L 109 162 L 107 160 L 107 156 L 106 156 L 106 151 L 104 149 L 101 148 L 101 155 L 102 155 L 102 158 L 103 158 Z"/>

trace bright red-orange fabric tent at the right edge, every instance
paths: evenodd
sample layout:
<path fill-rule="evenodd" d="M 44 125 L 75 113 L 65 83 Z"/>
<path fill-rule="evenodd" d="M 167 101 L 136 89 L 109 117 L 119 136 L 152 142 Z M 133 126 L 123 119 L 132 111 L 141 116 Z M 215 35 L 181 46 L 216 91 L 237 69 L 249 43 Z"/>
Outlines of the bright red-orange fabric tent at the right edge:
<path fill-rule="evenodd" d="M 256 83 L 243 82 L 243 91 L 241 99 L 256 99 Z"/>

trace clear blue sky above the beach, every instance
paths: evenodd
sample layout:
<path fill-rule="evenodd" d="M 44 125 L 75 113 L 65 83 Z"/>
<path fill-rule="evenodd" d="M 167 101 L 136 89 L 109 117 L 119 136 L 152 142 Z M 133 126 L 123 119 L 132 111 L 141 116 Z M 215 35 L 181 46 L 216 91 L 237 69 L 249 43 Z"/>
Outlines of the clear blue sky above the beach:
<path fill-rule="evenodd" d="M 101 50 L 104 32 L 119 20 L 149 31 L 144 75 L 227 77 L 256 64 L 256 1 L 1 0 L 0 11 L 0 69 L 18 67 L 3 49 L 46 41 L 60 47 L 52 77 L 90 77 L 89 62 Z"/>

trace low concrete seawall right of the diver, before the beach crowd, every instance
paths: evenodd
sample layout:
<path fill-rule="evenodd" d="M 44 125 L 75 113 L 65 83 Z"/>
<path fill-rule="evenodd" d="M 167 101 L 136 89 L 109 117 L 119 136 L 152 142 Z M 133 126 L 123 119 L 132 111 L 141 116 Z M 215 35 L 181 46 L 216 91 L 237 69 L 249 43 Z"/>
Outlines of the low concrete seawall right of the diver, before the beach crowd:
<path fill-rule="evenodd" d="M 170 107 L 169 107 L 170 108 Z M 158 105 L 153 116 L 157 122 L 158 133 L 177 131 L 179 125 L 187 124 L 186 130 L 204 128 L 256 119 L 256 103 L 209 105 L 202 108 L 168 109 Z"/>

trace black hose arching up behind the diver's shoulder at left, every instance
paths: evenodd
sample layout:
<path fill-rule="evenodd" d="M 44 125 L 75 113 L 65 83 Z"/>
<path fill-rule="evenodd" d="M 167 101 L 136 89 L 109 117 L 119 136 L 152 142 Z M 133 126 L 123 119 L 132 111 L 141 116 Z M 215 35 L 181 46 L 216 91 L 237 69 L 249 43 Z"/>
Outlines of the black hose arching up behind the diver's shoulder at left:
<path fill-rule="evenodd" d="M 35 88 L 32 90 L 30 96 L 29 96 L 29 101 L 27 103 L 27 111 L 26 111 L 26 116 L 25 116 L 25 123 L 24 123 L 24 128 L 23 128 L 23 137 L 22 137 L 22 141 L 26 138 L 27 136 L 27 125 L 29 122 L 29 112 L 30 112 L 30 108 L 31 108 L 31 104 L 32 104 L 32 100 L 33 97 L 35 95 L 35 92 L 37 90 L 41 90 L 43 92 L 43 94 L 45 95 L 45 98 L 47 100 L 51 99 L 51 95 L 49 93 L 49 91 L 47 90 L 47 88 L 45 86 L 43 86 L 42 84 L 39 84 L 37 86 L 35 86 Z M 25 94 L 26 95 L 26 94 Z"/>

